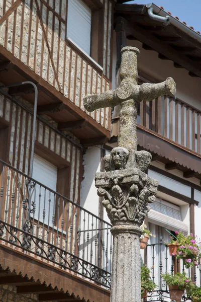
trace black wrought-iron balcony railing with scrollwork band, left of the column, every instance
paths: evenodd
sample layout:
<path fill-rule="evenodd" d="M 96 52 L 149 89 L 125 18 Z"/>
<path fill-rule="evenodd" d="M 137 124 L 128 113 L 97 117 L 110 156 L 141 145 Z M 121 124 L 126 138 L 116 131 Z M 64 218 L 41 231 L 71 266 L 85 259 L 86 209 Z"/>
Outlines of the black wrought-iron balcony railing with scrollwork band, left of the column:
<path fill-rule="evenodd" d="M 110 288 L 111 224 L 0 161 L 2 243 Z"/>

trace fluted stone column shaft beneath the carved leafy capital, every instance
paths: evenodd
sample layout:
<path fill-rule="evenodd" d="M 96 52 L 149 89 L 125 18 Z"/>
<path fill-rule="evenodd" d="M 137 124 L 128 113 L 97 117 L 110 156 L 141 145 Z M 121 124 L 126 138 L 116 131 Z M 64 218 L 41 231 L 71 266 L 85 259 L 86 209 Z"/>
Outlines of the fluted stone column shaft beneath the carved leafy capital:
<path fill-rule="evenodd" d="M 142 230 L 133 225 L 116 225 L 111 233 L 114 236 L 111 302 L 141 302 Z"/>

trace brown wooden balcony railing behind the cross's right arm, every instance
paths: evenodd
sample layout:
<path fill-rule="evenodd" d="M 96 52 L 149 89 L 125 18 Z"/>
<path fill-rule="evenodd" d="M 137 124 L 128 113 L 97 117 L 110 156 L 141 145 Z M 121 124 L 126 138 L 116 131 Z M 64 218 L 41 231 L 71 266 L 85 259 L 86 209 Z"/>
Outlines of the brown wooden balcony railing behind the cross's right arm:
<path fill-rule="evenodd" d="M 200 153 L 200 112 L 177 98 L 165 96 L 141 102 L 138 124 Z"/>

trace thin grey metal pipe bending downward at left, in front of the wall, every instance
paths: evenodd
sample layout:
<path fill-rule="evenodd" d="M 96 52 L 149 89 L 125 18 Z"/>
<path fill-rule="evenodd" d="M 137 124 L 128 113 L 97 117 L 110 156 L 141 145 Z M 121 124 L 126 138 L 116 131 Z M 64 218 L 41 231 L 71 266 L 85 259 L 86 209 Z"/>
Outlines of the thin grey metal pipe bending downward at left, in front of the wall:
<path fill-rule="evenodd" d="M 33 165 L 34 165 L 34 147 L 35 147 L 36 116 L 37 116 L 37 103 L 38 103 L 38 88 L 37 88 L 36 84 L 34 84 L 33 82 L 25 81 L 25 82 L 21 82 L 21 83 L 3 85 L 3 86 L 0 86 L 0 89 L 22 86 L 22 85 L 27 85 L 27 84 L 32 85 L 34 87 L 34 91 L 35 91 L 34 118 L 33 118 L 32 143 L 31 143 L 31 158 L 30 158 L 30 169 L 29 169 L 29 176 L 32 177 L 32 175 L 33 175 Z"/>

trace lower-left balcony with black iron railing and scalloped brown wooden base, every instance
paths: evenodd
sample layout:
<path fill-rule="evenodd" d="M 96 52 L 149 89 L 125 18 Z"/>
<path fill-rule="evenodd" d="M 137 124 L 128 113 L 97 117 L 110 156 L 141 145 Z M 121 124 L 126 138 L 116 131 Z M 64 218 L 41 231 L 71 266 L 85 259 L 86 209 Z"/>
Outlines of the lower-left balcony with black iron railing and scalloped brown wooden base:
<path fill-rule="evenodd" d="M 10 165 L 0 166 L 0 285 L 17 285 L 21 294 L 38 291 L 41 300 L 51 293 L 51 301 L 109 301 L 111 224 Z"/>

